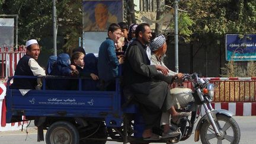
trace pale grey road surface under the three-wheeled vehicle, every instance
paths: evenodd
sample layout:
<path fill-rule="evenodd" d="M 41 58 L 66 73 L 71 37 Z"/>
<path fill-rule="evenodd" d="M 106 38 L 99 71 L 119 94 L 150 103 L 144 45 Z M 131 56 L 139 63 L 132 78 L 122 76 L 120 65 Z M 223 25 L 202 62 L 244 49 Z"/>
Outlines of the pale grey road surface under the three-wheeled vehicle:
<path fill-rule="evenodd" d="M 248 144 L 248 143 L 256 143 L 256 116 L 235 116 L 234 119 L 239 124 L 241 129 L 241 139 L 239 144 Z M 1 144 L 45 144 L 46 142 L 36 142 L 37 134 L 36 128 L 30 127 L 28 129 L 28 135 L 21 131 L 8 131 L 8 132 L 0 132 L 0 143 Z M 180 144 L 185 143 L 197 143 L 201 144 L 201 142 L 194 142 L 194 135 L 192 135 L 188 140 L 184 142 L 179 142 Z M 107 144 L 121 144 L 120 142 L 107 142 Z M 156 143 L 154 143 L 156 144 Z"/>

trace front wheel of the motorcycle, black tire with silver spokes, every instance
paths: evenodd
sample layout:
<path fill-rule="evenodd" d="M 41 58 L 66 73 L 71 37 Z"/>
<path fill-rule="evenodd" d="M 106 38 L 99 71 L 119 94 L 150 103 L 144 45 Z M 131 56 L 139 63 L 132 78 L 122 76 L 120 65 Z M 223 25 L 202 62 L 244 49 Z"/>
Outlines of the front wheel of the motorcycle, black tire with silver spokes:
<path fill-rule="evenodd" d="M 217 114 L 217 123 L 219 123 L 219 131 L 222 136 L 217 137 L 212 125 L 208 121 L 204 121 L 200 129 L 200 138 L 203 144 L 210 143 L 232 143 L 238 144 L 240 140 L 240 129 L 236 121 L 232 117 L 223 114 Z M 224 128 L 224 129 L 223 129 Z"/>

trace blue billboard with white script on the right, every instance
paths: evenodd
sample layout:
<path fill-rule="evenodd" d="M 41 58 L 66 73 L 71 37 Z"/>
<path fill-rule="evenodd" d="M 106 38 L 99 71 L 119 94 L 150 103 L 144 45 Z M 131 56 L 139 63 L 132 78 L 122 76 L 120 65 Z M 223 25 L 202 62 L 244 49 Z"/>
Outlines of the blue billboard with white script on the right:
<path fill-rule="evenodd" d="M 256 60 L 256 34 L 226 34 L 226 60 Z"/>

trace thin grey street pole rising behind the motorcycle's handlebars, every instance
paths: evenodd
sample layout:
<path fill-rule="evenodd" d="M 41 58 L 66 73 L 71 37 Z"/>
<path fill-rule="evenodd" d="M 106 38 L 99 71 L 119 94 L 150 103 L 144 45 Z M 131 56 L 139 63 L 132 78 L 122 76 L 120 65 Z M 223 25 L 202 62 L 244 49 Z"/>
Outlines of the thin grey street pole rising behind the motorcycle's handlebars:
<path fill-rule="evenodd" d="M 178 72 L 178 1 L 174 1 L 174 23 L 175 23 L 175 72 Z"/>

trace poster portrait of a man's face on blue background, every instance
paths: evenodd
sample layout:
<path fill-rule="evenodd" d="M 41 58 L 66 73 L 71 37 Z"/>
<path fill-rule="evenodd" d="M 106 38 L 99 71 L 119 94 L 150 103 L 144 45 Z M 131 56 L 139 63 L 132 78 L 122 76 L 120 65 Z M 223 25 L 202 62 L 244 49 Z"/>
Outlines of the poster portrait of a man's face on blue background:
<path fill-rule="evenodd" d="M 107 31 L 123 21 L 123 1 L 83 1 L 83 31 Z"/>

